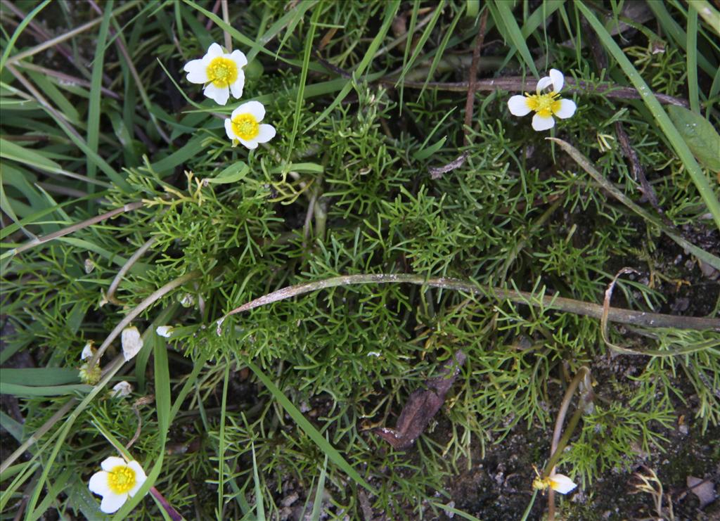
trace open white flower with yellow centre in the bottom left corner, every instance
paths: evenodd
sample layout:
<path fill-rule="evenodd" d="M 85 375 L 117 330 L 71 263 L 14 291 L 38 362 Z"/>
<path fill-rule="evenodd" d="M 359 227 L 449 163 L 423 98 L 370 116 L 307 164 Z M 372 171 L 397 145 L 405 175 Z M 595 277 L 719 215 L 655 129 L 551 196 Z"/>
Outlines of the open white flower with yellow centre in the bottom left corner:
<path fill-rule="evenodd" d="M 122 507 L 128 497 L 138 493 L 148 476 L 145 476 L 143 467 L 137 461 L 125 463 L 124 459 L 117 456 L 110 456 L 100 466 L 102 471 L 91 476 L 89 489 L 102 496 L 100 509 L 106 514 L 112 514 Z"/>

